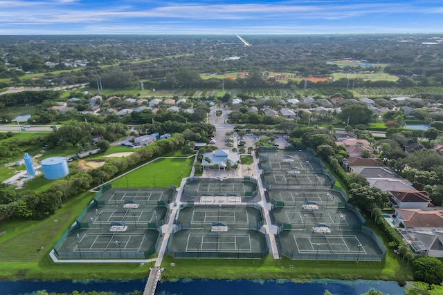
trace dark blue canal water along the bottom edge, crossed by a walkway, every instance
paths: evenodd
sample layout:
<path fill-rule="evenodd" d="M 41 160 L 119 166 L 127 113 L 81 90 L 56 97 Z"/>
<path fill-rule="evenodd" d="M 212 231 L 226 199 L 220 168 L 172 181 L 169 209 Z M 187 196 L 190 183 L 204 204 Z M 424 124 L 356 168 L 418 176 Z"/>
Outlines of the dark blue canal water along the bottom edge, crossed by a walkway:
<path fill-rule="evenodd" d="M 0 281 L 2 294 L 19 295 L 37 290 L 46 292 L 117 292 L 125 294 L 143 291 L 145 280 L 55 280 L 55 281 Z M 384 280 L 178 280 L 159 283 L 156 294 L 311 294 L 323 295 L 326 290 L 332 294 L 358 295 L 370 289 L 383 294 L 404 294 L 404 287 L 396 282 Z M 228 293 L 227 293 L 228 292 Z"/>

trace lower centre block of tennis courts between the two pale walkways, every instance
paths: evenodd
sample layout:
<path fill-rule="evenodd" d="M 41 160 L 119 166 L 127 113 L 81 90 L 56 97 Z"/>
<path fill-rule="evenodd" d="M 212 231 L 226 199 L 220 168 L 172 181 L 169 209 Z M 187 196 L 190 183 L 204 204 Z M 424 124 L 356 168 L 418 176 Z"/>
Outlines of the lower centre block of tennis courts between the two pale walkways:
<path fill-rule="evenodd" d="M 181 209 L 169 251 L 174 257 L 254 258 L 268 249 L 261 211 L 252 207 L 186 207 Z"/>

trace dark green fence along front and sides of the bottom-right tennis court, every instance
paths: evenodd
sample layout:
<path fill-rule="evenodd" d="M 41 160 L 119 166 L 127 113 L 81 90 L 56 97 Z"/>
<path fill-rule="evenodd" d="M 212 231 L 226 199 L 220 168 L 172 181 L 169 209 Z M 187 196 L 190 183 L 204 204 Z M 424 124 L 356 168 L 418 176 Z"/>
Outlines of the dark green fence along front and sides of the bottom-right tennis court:
<path fill-rule="evenodd" d="M 283 226 L 281 225 L 279 227 L 279 233 L 283 229 Z M 386 257 L 386 252 L 388 249 L 385 245 L 383 245 L 383 242 L 379 239 L 377 234 L 375 234 L 372 229 L 365 227 L 361 225 L 359 231 L 361 233 L 366 234 L 368 236 L 371 236 L 372 240 L 376 242 L 377 246 L 381 250 L 381 254 L 364 254 L 358 251 L 357 253 L 350 253 L 350 254 L 333 254 L 333 253 L 318 253 L 314 251 L 313 253 L 298 253 L 298 252 L 292 252 L 287 249 L 284 249 L 282 247 L 282 243 L 280 242 L 280 234 L 278 234 L 276 240 L 278 240 L 279 251 L 282 253 L 282 255 L 287 256 L 288 258 L 292 260 L 343 260 L 343 261 L 381 261 Z"/>

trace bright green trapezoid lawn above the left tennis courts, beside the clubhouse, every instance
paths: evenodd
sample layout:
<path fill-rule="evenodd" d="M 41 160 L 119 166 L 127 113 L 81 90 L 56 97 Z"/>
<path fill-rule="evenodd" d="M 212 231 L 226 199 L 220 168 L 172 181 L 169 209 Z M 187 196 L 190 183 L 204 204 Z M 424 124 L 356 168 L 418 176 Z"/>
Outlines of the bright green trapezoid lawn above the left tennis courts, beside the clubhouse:
<path fill-rule="evenodd" d="M 179 186 L 188 177 L 194 158 L 158 159 L 111 182 L 113 187 L 163 187 Z M 183 173 L 182 173 L 183 172 Z"/>

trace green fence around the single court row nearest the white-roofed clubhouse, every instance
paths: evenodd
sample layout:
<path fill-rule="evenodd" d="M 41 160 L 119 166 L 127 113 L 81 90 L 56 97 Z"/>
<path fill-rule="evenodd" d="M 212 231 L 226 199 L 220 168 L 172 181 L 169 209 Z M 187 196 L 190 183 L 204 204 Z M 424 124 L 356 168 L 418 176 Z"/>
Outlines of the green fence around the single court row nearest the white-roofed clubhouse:
<path fill-rule="evenodd" d="M 232 183 L 244 183 L 244 182 L 252 182 L 253 184 L 255 184 L 255 189 L 253 191 L 245 191 L 244 195 L 246 197 L 253 197 L 253 196 L 257 196 L 258 193 L 258 183 L 257 180 L 255 178 L 251 178 L 249 176 L 245 176 L 244 178 L 219 178 L 217 179 L 220 182 L 227 182 L 228 184 L 232 184 Z M 201 178 L 199 176 L 191 176 L 189 178 L 186 179 L 185 182 L 185 187 L 183 188 L 183 193 L 185 193 L 187 196 L 190 197 L 201 197 L 201 196 L 210 196 L 210 197 L 233 197 L 233 196 L 238 196 L 239 193 L 223 193 L 223 192 L 219 192 L 219 193 L 212 193 L 212 192 L 202 192 L 199 193 L 197 190 L 191 190 L 188 189 L 190 182 L 205 182 L 205 183 L 213 183 L 214 182 L 214 178 Z"/>

